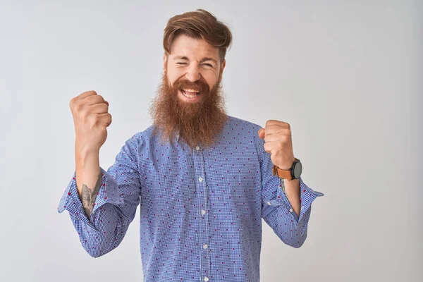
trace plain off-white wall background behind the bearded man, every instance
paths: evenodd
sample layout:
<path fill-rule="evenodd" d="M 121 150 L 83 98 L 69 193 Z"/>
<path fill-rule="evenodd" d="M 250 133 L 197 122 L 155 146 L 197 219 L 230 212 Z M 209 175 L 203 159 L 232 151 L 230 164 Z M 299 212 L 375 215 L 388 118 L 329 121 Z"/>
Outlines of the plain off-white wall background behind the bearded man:
<path fill-rule="evenodd" d="M 261 280 L 422 281 L 422 1 L 50 2 L 0 1 L 0 281 L 142 281 L 139 214 L 93 259 L 57 213 L 75 169 L 68 103 L 110 103 L 108 168 L 151 124 L 168 18 L 196 8 L 233 32 L 228 114 L 290 123 L 302 178 L 325 194 L 300 249 L 264 223 Z"/>

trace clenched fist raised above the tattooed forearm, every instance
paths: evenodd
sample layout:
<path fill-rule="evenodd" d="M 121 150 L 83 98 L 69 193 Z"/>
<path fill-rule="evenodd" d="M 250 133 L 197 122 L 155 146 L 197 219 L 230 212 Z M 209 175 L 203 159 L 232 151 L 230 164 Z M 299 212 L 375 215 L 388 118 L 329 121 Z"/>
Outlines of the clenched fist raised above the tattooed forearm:
<path fill-rule="evenodd" d="M 99 150 L 111 124 L 109 102 L 95 91 L 87 91 L 71 99 L 69 106 L 75 124 L 75 147 L 83 151 Z"/>

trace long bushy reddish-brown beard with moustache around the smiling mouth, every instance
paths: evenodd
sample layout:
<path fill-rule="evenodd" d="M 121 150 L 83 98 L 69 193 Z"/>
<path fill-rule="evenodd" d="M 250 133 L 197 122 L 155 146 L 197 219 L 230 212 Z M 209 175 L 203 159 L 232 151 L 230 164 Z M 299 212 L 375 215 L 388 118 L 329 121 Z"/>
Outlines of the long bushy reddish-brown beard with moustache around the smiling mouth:
<path fill-rule="evenodd" d="M 176 135 L 191 148 L 201 145 L 209 147 L 216 142 L 228 116 L 225 111 L 221 76 L 210 90 L 209 85 L 197 80 L 178 80 L 170 85 L 166 69 L 150 106 L 154 131 L 160 131 L 164 142 L 172 142 Z M 184 102 L 179 90 L 194 89 L 202 96 L 197 102 Z"/>

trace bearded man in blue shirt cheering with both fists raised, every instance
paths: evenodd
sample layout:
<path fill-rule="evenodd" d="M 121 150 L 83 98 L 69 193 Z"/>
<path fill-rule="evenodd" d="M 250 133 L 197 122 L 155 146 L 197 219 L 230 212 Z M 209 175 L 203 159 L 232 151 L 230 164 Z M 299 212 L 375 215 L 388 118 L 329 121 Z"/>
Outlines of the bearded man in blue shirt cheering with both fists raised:
<path fill-rule="evenodd" d="M 71 100 L 76 168 L 67 209 L 92 257 L 121 243 L 140 204 L 145 281 L 259 281 L 262 218 L 300 247 L 320 195 L 300 178 L 290 125 L 228 116 L 221 78 L 231 31 L 209 12 L 174 16 L 164 30 L 164 75 L 154 123 L 99 166 L 111 123 L 94 91 Z"/>

